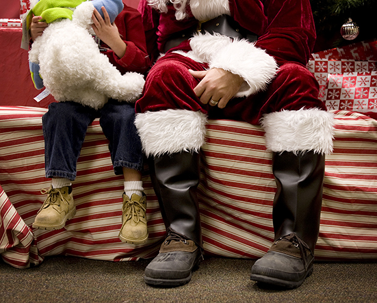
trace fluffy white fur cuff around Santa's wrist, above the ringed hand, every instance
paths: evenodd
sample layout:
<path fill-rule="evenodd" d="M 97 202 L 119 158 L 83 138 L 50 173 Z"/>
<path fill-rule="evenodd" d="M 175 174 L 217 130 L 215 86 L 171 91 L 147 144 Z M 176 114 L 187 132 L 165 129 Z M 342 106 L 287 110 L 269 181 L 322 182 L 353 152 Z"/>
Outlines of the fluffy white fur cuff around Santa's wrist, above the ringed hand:
<path fill-rule="evenodd" d="M 209 68 L 229 70 L 246 81 L 236 97 L 265 90 L 278 70 L 274 57 L 247 40 L 232 40 L 220 34 L 198 34 L 190 40 L 190 46 L 192 51 L 185 54 L 187 57 L 207 62 Z"/>

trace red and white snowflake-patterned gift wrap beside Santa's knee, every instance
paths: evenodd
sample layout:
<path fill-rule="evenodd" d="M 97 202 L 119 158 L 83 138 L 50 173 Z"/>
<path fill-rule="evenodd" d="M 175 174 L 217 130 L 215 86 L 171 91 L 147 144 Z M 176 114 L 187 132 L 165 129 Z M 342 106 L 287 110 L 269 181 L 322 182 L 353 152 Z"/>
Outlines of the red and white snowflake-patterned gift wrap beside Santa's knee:
<path fill-rule="evenodd" d="M 377 41 L 313 53 L 307 68 L 328 109 L 377 113 Z"/>

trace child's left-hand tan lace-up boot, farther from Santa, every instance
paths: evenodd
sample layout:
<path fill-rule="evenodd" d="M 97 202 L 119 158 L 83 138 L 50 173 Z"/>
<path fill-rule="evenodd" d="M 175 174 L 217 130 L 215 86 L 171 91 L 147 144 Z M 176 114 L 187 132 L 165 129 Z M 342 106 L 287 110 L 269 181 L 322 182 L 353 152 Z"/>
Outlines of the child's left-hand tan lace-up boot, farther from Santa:
<path fill-rule="evenodd" d="M 36 215 L 33 227 L 47 230 L 63 228 L 66 220 L 76 214 L 73 202 L 72 187 L 42 189 L 42 194 L 47 194 L 47 199 Z"/>

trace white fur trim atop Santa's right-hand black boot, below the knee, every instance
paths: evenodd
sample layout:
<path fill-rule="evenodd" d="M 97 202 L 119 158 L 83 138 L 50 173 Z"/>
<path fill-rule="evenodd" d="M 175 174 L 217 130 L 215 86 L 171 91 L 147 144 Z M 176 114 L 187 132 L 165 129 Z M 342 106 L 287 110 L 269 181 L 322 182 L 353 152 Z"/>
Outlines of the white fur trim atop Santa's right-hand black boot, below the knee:
<path fill-rule="evenodd" d="M 277 111 L 261 119 L 265 143 L 274 153 L 289 151 L 330 154 L 333 151 L 334 115 L 320 109 Z"/>

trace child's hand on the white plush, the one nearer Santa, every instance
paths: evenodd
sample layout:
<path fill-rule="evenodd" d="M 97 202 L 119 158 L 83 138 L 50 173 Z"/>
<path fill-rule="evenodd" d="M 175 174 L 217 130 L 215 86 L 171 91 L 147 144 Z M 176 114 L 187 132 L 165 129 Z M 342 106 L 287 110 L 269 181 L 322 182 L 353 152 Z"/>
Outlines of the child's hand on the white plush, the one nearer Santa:
<path fill-rule="evenodd" d="M 99 14 L 98 10 L 94 9 L 93 12 L 92 28 L 94 30 L 94 33 L 105 44 L 107 44 L 118 57 L 121 58 L 126 53 L 127 45 L 122 40 L 122 38 L 120 38 L 118 27 L 116 27 L 114 23 L 110 23 L 110 17 L 109 14 L 107 14 L 105 7 L 102 7 L 101 10 L 103 12 L 103 16 L 105 17 L 105 20 L 102 18 L 101 14 Z"/>

